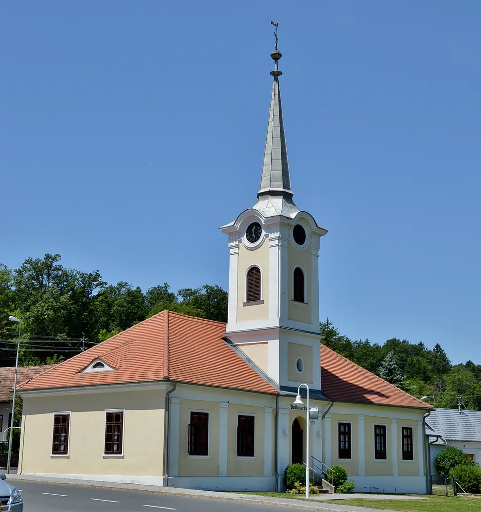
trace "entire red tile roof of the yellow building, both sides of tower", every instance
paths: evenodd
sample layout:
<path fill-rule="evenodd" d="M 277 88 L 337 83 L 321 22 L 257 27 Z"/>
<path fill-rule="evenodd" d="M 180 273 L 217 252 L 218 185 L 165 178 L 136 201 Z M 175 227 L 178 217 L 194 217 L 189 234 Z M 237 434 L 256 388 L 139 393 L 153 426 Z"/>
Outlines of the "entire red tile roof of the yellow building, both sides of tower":
<path fill-rule="evenodd" d="M 176 380 L 277 393 L 222 339 L 225 324 L 162 311 L 19 386 L 23 391 Z M 86 372 L 94 359 L 113 371 Z M 430 406 L 321 345 L 322 392 L 344 402 Z"/>

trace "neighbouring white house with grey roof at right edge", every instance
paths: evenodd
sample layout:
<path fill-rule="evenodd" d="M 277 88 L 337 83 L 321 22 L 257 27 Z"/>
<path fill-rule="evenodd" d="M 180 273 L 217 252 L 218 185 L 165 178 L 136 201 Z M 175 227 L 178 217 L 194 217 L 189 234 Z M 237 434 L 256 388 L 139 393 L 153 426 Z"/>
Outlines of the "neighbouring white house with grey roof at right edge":
<path fill-rule="evenodd" d="M 481 463 L 481 411 L 433 409 L 426 419 L 433 483 L 444 482 L 434 467 L 434 458 L 445 446 L 455 446 Z"/>

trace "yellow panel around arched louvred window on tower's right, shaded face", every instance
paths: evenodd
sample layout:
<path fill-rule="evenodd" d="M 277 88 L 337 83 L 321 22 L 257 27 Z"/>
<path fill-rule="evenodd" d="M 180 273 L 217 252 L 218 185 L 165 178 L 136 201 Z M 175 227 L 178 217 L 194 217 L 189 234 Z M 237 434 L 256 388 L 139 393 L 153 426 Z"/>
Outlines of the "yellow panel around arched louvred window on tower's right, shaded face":
<path fill-rule="evenodd" d="M 307 304 L 299 304 L 292 301 L 294 296 L 293 280 L 294 268 L 300 266 L 306 276 L 306 302 Z M 296 320 L 298 322 L 305 322 L 307 324 L 312 323 L 312 312 L 311 312 L 311 255 L 310 248 L 307 246 L 305 250 L 300 250 L 294 242 L 289 240 L 287 248 L 287 267 L 288 267 L 288 301 L 287 301 L 287 317 L 289 320 Z"/>

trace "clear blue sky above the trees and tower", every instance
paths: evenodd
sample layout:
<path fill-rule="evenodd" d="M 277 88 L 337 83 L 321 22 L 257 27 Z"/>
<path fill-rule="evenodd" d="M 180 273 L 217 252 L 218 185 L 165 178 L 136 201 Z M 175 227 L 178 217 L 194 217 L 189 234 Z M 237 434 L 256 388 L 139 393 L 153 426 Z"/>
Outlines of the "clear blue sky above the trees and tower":
<path fill-rule="evenodd" d="M 481 3 L 3 2 L 0 262 L 227 288 L 256 202 L 277 19 L 321 318 L 481 364 Z"/>

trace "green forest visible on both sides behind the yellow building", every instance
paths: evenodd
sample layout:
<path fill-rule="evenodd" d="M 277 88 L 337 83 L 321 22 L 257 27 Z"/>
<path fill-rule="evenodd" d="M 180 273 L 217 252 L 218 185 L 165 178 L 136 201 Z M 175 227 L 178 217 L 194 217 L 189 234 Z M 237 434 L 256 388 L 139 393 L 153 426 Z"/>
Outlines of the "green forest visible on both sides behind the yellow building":
<path fill-rule="evenodd" d="M 0 264 L 0 366 L 15 364 L 22 319 L 20 364 L 48 364 L 72 357 L 145 318 L 169 309 L 227 321 L 227 292 L 217 285 L 182 288 L 168 283 L 143 292 L 139 287 L 103 281 L 98 270 L 82 272 L 61 265 L 59 254 L 28 258 L 17 269 Z M 351 340 L 329 319 L 321 323 L 323 343 L 408 393 L 427 396 L 437 407 L 481 410 L 481 365 L 452 365 L 443 348 L 388 339 L 383 345 Z"/>

